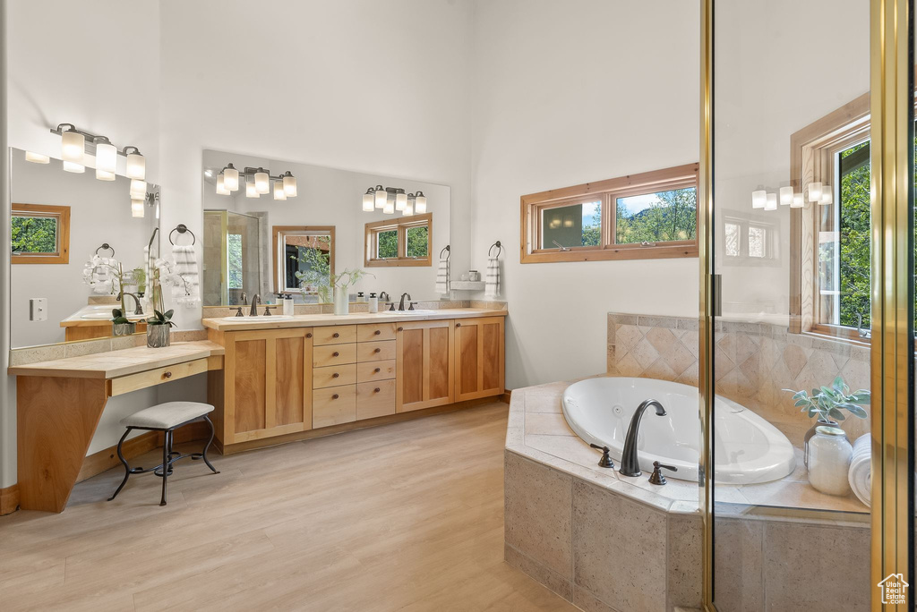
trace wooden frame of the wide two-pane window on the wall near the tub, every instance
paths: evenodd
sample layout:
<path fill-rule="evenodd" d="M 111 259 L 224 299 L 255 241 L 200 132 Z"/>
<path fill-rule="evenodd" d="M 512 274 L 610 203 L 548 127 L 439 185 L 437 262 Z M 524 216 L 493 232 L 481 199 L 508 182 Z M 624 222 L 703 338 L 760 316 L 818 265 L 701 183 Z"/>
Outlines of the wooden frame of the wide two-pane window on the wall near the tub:
<path fill-rule="evenodd" d="M 614 259 L 656 259 L 668 257 L 698 257 L 698 242 L 673 240 L 652 245 L 617 244 L 616 200 L 658 191 L 686 189 L 698 186 L 699 165 L 685 164 L 674 168 L 652 170 L 616 179 L 583 183 L 562 189 L 541 191 L 520 199 L 520 262 L 524 264 L 569 261 L 605 261 Z M 602 231 L 599 246 L 569 246 L 539 248 L 542 239 L 542 212 L 552 208 L 585 202 L 602 202 Z M 700 207 L 697 207 L 700 214 Z"/>

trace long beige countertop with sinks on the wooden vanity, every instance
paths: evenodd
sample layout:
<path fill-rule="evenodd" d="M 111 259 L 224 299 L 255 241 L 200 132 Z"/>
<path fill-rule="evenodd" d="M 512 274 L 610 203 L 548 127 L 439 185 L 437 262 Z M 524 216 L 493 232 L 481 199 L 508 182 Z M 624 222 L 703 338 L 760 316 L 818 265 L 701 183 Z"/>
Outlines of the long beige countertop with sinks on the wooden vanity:
<path fill-rule="evenodd" d="M 327 325 L 355 325 L 359 323 L 387 323 L 400 321 L 436 321 L 440 319 L 471 319 L 475 317 L 504 317 L 505 310 L 483 308 L 442 308 L 421 314 L 393 314 L 384 312 L 354 312 L 351 314 L 297 314 L 293 319 L 271 321 L 274 315 L 257 317 L 225 317 L 204 319 L 204 327 L 219 332 L 238 330 L 283 329 L 290 327 L 324 327 Z M 237 321 L 238 319 L 238 321 Z"/>

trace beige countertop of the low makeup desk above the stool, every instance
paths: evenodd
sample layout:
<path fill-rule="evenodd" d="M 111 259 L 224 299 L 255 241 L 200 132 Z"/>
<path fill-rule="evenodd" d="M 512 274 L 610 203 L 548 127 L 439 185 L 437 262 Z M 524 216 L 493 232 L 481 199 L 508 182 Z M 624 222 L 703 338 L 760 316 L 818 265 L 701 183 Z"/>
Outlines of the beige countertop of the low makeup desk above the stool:
<path fill-rule="evenodd" d="M 116 378 L 157 367 L 223 355 L 219 344 L 208 340 L 176 342 L 163 348 L 135 346 L 118 351 L 39 361 L 26 366 L 10 366 L 6 373 L 20 377 Z"/>

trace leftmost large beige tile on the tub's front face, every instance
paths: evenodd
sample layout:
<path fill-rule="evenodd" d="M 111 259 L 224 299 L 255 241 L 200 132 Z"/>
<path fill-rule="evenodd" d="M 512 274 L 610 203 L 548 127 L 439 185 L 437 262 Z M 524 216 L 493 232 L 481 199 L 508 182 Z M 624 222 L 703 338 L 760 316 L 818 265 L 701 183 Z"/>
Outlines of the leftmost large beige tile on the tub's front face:
<path fill-rule="evenodd" d="M 571 579 L 572 476 L 504 454 L 504 538 L 507 544 Z"/>

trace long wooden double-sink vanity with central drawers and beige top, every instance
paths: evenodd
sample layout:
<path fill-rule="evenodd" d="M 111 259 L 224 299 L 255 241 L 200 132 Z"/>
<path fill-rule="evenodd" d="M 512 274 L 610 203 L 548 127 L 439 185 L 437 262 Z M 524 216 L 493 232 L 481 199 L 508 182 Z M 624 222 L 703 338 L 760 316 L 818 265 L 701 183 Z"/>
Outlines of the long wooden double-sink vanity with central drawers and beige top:
<path fill-rule="evenodd" d="M 443 309 L 204 319 L 226 351 L 208 383 L 218 448 L 234 453 L 503 395 L 505 316 Z"/>

